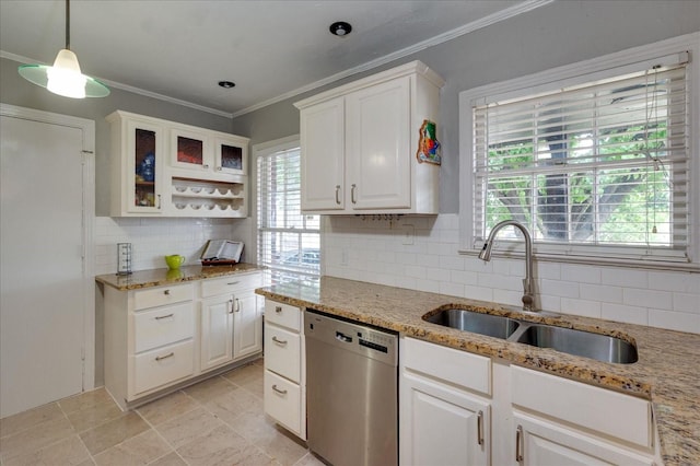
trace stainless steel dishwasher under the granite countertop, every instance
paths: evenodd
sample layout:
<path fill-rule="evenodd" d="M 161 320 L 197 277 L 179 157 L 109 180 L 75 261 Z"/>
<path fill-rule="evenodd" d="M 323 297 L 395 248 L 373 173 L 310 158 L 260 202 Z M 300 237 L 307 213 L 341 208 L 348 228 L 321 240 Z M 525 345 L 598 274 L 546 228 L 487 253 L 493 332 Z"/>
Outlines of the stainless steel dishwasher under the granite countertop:
<path fill-rule="evenodd" d="M 304 313 L 306 435 L 334 466 L 398 464 L 398 336 Z"/>

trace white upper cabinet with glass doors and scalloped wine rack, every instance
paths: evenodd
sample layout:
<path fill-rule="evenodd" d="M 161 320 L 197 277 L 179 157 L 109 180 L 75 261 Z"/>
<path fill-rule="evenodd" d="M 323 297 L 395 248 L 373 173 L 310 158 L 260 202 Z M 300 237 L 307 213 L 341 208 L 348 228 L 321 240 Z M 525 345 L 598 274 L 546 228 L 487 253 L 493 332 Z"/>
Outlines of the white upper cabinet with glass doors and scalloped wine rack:
<path fill-rule="evenodd" d="M 248 139 L 117 110 L 113 217 L 247 217 Z"/>

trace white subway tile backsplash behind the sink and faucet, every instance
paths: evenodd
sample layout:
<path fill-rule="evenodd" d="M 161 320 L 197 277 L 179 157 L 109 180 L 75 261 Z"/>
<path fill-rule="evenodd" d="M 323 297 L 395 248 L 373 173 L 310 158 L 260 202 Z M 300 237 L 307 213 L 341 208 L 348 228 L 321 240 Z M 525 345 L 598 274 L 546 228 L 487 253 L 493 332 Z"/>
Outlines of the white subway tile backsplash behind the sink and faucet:
<path fill-rule="evenodd" d="M 325 275 L 520 305 L 523 260 L 457 254 L 456 214 L 324 217 Z M 547 311 L 700 334 L 700 273 L 535 261 Z"/>

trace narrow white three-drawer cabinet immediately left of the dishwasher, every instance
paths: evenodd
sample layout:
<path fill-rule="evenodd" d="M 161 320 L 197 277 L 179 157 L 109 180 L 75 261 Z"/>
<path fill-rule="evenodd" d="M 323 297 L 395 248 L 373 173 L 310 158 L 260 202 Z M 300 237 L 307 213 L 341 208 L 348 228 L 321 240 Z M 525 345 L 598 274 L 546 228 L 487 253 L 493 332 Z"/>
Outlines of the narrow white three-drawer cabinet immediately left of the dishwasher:
<path fill-rule="evenodd" d="M 265 302 L 265 413 L 306 440 L 303 319 L 300 307 Z"/>

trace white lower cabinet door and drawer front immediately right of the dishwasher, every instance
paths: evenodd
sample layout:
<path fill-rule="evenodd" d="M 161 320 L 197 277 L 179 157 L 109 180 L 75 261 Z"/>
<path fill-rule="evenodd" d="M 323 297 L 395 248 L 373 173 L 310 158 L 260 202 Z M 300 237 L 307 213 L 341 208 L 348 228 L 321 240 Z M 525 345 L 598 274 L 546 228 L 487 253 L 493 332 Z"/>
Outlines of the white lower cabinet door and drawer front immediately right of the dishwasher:
<path fill-rule="evenodd" d="M 490 359 L 411 338 L 400 351 L 399 463 L 490 464 Z"/>

